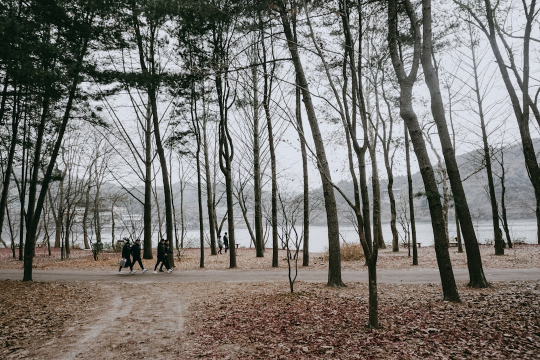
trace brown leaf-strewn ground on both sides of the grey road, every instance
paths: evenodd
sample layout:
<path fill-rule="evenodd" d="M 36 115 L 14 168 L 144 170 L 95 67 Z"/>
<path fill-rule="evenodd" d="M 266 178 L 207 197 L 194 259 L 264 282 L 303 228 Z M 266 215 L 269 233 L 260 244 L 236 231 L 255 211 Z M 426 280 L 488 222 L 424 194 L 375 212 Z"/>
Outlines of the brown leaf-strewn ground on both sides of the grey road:
<path fill-rule="evenodd" d="M 208 249 L 207 249 L 208 250 Z M 457 288 L 461 303 L 443 301 L 440 282 L 379 282 L 379 329 L 368 324 L 367 282 L 345 288 L 326 282 L 288 279 L 235 282 L 173 282 L 186 272 L 227 270 L 228 254 L 181 250 L 171 274 L 107 275 L 106 281 L 0 281 L 0 358 L 2 359 L 538 359 L 540 358 L 540 281 L 492 281 L 492 287 Z M 529 269 L 540 273 L 540 246 L 517 244 L 495 256 L 481 246 L 483 267 Z M 407 249 L 380 250 L 377 269 L 436 268 L 433 247 L 419 249 L 419 266 Z M 467 267 L 464 253 L 450 248 L 455 269 Z M 300 254 L 301 256 L 301 254 Z M 117 253 L 72 249 L 60 260 L 58 249 L 37 248 L 33 268 L 99 274 L 118 271 Z M 153 260 L 143 260 L 153 269 Z M 327 270 L 325 254 L 310 254 L 302 271 Z M 22 270 L 10 249 L 0 249 L 2 271 Z M 286 253 L 279 267 L 287 268 Z M 301 267 L 301 259 L 299 260 Z M 136 269 L 138 266 L 135 267 Z M 237 270 L 271 270 L 272 252 L 255 257 L 237 250 Z M 365 271 L 362 259 L 342 261 L 343 272 Z M 418 270 L 415 270 L 418 269 Z M 126 269 L 123 272 L 127 272 Z M 73 271 L 71 271 L 73 272 Z M 399 271 L 396 271 L 399 274 Z M 153 276 L 153 277 L 152 277 Z M 134 279 L 147 279 L 134 282 Z M 4 277 L 0 276 L 0 279 Z M 152 281 L 159 279 L 160 281 Z"/>

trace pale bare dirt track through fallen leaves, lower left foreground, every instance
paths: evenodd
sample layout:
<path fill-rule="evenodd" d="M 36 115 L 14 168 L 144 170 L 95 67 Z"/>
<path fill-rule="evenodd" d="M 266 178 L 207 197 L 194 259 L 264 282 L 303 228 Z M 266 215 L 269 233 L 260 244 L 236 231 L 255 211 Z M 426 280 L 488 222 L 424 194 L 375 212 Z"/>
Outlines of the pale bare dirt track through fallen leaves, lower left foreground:
<path fill-rule="evenodd" d="M 43 360 L 173 359 L 191 294 L 170 284 L 99 283 L 106 297 L 59 337 L 17 358 Z M 167 304 L 166 299 L 171 299 Z"/>

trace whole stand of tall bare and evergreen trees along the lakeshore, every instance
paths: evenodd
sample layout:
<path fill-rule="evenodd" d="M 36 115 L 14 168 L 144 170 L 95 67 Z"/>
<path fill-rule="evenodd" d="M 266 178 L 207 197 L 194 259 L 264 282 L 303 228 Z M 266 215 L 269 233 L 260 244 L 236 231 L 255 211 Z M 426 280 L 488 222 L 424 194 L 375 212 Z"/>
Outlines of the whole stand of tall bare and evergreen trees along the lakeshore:
<path fill-rule="evenodd" d="M 497 148 L 516 140 L 512 126 L 502 131 L 509 111 L 517 120 L 540 231 L 540 170 L 532 145 L 540 126 L 532 95 L 538 84 L 531 76 L 537 25 L 534 0 L 522 8 L 488 0 L 4 1 L 0 231 L 7 219 L 14 256 L 18 234 L 23 280 L 30 281 L 38 237 L 54 232 L 55 246 L 65 246 L 69 255 L 77 217 L 84 245 L 93 229 L 99 246 L 100 214 L 111 214 L 114 231 L 115 208 L 139 208 L 143 233 L 133 228 L 131 234 L 142 235 L 149 259 L 156 223 L 160 237 L 183 246 L 183 206 L 177 209 L 174 200 L 186 184 L 196 184 L 201 267 L 206 243 L 216 253 L 225 221 L 230 267 L 236 266 L 238 219 L 245 220 L 257 256 L 264 256 L 270 237 L 278 266 L 280 246 L 298 250 L 303 243 L 307 266 L 315 167 L 328 227 L 328 285 L 344 285 L 336 205 L 341 196 L 366 255 L 369 324 L 377 327 L 377 251 L 386 247 L 379 179 L 388 179 L 397 251 L 393 178 L 403 154 L 410 179 L 410 139 L 444 298 L 460 301 L 448 253 L 452 202 L 469 285 L 489 283 L 456 151 L 482 144 L 476 171 L 488 175 L 496 253 L 503 254 L 504 165 L 493 159 Z M 504 92 L 494 86 L 496 79 L 503 80 Z M 294 200 L 286 196 L 292 174 L 282 161 L 292 149 L 302 165 L 303 195 L 289 196 Z M 352 193 L 340 185 L 343 178 Z M 107 182 L 122 187 L 123 195 L 104 192 Z M 407 192 L 417 263 L 410 181 Z M 225 214 L 218 214 L 218 205 Z"/>

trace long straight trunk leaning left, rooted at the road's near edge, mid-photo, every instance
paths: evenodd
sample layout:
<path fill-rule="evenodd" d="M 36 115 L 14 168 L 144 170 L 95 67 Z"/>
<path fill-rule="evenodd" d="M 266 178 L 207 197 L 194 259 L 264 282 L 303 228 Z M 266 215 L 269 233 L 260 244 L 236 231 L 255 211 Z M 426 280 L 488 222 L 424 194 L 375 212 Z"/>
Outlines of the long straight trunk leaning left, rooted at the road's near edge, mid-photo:
<path fill-rule="evenodd" d="M 329 266 L 328 266 L 328 286 L 343 287 L 343 281 L 341 280 L 341 252 L 340 252 L 340 239 L 339 239 L 339 223 L 338 223 L 338 209 L 336 206 L 336 200 L 334 195 L 334 188 L 330 179 L 330 171 L 328 166 L 328 160 L 326 158 L 326 151 L 324 141 L 319 129 L 319 123 L 315 114 L 315 107 L 311 98 L 311 92 L 309 92 L 309 85 L 307 83 L 306 76 L 303 71 L 302 62 L 298 53 L 298 45 L 294 41 L 293 33 L 291 30 L 291 24 L 289 22 L 289 10 L 285 8 L 283 1 L 278 3 L 278 11 L 280 13 L 281 22 L 283 25 L 285 37 L 287 39 L 287 46 L 291 53 L 296 76 L 300 81 L 300 89 L 302 90 L 302 96 L 304 106 L 306 107 L 307 118 L 309 126 L 311 127 L 313 134 L 313 141 L 315 144 L 315 151 L 318 159 L 318 168 L 321 174 L 322 189 L 325 197 L 326 208 L 326 221 L 328 226 L 328 254 L 329 254 Z"/>

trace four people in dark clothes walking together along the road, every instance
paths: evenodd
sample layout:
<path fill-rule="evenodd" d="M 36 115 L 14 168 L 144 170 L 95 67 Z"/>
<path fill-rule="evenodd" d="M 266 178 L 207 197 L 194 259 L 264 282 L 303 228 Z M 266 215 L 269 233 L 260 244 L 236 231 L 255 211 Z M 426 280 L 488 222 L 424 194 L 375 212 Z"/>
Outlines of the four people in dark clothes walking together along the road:
<path fill-rule="evenodd" d="M 154 266 L 154 274 L 158 273 L 158 266 L 161 263 L 161 266 L 159 267 L 159 271 L 163 272 L 163 267 L 167 269 L 167 273 L 171 273 L 173 270 L 171 266 L 169 265 L 168 259 L 173 256 L 173 252 L 169 246 L 168 239 L 161 239 L 158 243 L 158 261 L 156 262 L 156 266 Z M 127 237 L 124 237 L 124 247 L 122 247 L 122 262 L 125 259 L 125 263 L 122 266 L 120 264 L 120 268 L 118 269 L 118 274 L 122 274 L 122 268 L 130 268 L 130 274 L 137 273 L 137 270 L 133 270 L 133 265 L 137 262 L 139 263 L 139 266 L 141 269 L 143 269 L 143 273 L 146 273 L 148 269 L 146 269 L 143 266 L 143 261 L 140 258 L 140 239 L 135 240 L 133 245 L 130 244 L 130 239 L 127 239 Z"/>

